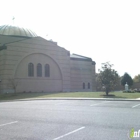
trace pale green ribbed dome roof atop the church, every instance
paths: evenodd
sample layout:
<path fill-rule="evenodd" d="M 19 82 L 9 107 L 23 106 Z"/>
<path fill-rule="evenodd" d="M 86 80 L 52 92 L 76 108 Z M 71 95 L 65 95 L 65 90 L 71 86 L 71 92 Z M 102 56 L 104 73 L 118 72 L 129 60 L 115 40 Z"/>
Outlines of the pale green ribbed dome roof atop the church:
<path fill-rule="evenodd" d="M 9 36 L 20 36 L 20 37 L 36 37 L 37 34 L 30 29 L 12 26 L 12 25 L 2 25 L 0 26 L 0 35 Z"/>

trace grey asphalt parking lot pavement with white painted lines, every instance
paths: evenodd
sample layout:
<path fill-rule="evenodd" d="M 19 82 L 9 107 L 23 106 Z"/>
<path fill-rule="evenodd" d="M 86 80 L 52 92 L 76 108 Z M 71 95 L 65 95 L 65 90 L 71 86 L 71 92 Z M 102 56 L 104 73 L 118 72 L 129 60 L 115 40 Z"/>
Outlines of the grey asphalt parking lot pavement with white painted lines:
<path fill-rule="evenodd" d="M 0 103 L 1 140 L 118 140 L 140 129 L 139 101 Z"/>

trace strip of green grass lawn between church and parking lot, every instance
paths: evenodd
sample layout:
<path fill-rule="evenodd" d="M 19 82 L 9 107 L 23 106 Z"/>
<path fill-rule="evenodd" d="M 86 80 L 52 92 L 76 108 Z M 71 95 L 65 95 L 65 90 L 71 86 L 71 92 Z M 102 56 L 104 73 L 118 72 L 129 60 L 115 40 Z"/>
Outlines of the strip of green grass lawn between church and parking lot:
<path fill-rule="evenodd" d="M 140 93 L 111 92 L 109 96 L 105 92 L 70 92 L 70 93 L 17 93 L 0 95 L 0 100 L 14 100 L 27 98 L 50 98 L 50 97 L 74 97 L 74 98 L 140 98 Z"/>

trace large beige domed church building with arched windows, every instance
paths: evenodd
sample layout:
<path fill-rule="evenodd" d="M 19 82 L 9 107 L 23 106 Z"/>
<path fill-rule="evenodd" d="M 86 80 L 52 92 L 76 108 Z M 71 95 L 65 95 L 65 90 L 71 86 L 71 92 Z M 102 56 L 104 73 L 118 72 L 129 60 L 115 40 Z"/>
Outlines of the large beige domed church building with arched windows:
<path fill-rule="evenodd" d="M 95 91 L 95 65 L 30 29 L 0 26 L 0 93 Z"/>

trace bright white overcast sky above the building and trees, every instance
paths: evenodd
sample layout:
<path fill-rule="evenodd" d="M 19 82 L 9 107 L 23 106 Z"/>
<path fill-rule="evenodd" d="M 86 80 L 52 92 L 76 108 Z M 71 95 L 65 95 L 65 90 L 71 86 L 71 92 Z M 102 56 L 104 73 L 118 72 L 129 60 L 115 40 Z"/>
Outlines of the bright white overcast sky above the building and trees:
<path fill-rule="evenodd" d="M 0 25 L 31 28 L 61 47 L 140 74 L 140 0 L 4 0 Z"/>

